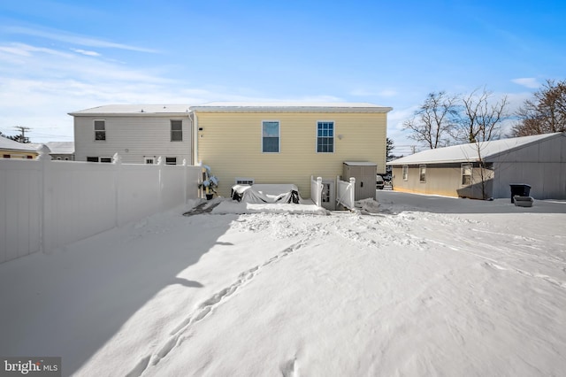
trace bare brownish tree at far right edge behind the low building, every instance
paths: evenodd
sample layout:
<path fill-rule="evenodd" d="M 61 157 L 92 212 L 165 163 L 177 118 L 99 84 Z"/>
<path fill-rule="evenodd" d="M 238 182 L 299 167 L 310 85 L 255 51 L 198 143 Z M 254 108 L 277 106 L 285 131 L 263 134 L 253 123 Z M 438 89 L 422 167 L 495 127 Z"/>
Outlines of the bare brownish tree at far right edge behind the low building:
<path fill-rule="evenodd" d="M 547 80 L 532 99 L 516 112 L 519 121 L 513 136 L 552 134 L 566 131 L 566 81 Z"/>

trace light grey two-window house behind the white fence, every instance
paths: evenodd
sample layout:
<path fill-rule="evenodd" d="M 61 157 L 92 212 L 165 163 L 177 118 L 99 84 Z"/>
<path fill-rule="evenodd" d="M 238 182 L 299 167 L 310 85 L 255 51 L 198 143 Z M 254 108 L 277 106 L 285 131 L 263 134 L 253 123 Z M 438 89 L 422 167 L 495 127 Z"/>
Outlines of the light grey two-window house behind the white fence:
<path fill-rule="evenodd" d="M 193 164 L 190 111 L 180 104 L 111 104 L 74 118 L 76 161 L 111 162 L 118 153 L 128 164 Z"/>

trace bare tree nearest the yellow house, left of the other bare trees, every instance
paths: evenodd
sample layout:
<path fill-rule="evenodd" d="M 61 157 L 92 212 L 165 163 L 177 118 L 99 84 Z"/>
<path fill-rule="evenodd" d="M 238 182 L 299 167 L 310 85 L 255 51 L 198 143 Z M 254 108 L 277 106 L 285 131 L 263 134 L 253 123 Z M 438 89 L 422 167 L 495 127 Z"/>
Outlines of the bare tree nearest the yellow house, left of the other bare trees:
<path fill-rule="evenodd" d="M 456 125 L 457 100 L 445 91 L 429 93 L 413 118 L 403 123 L 411 131 L 408 137 L 432 150 L 447 146 Z"/>

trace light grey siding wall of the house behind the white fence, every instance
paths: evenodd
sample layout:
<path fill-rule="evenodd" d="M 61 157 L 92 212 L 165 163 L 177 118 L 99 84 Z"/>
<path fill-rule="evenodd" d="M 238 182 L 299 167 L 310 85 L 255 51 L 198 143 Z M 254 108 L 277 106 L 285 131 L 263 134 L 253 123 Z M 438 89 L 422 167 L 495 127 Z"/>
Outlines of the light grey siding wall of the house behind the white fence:
<path fill-rule="evenodd" d="M 105 120 L 106 140 L 95 141 L 94 120 Z M 183 141 L 171 141 L 172 119 L 182 120 Z M 190 119 L 167 114 L 166 116 L 76 116 L 74 117 L 75 159 L 108 157 L 118 152 L 126 164 L 143 164 L 144 157 L 162 156 L 183 158 L 192 163 Z M 127 150 L 127 151 L 126 151 Z"/>

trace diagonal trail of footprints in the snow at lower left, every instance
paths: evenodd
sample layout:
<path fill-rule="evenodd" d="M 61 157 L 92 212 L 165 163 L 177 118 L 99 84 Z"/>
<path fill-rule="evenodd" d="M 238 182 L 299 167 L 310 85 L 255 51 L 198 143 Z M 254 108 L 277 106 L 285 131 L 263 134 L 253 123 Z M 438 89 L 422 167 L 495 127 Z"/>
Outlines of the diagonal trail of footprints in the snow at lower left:
<path fill-rule="evenodd" d="M 279 254 L 265 261 L 263 264 L 256 265 L 249 270 L 240 273 L 240 275 L 238 275 L 238 279 L 233 282 L 232 285 L 225 289 L 220 289 L 217 293 L 199 304 L 195 312 L 181 321 L 180 324 L 172 330 L 169 339 L 167 339 L 167 341 L 164 342 L 164 344 L 156 352 L 141 358 L 134 368 L 126 374 L 126 377 L 139 377 L 148 369 L 149 366 L 157 365 L 175 347 L 179 346 L 182 342 L 191 337 L 190 335 L 185 335 L 190 328 L 194 327 L 201 320 L 209 317 L 220 304 L 225 303 L 226 300 L 236 291 L 247 285 L 249 281 L 251 281 L 257 273 L 260 273 L 264 267 L 278 262 L 281 258 L 287 257 L 296 250 L 302 249 L 305 243 L 306 239 L 295 242 L 285 250 L 279 252 Z M 293 372 L 293 370 L 291 370 L 291 372 Z"/>

